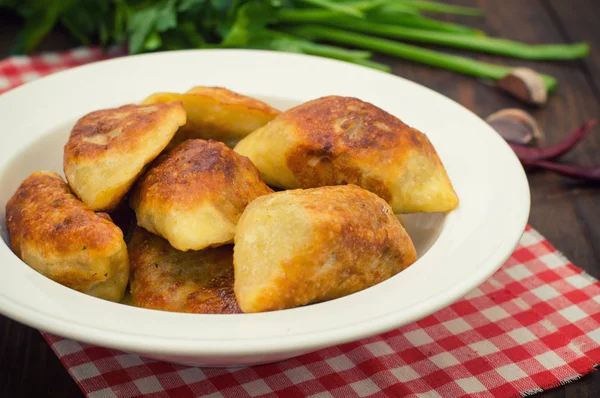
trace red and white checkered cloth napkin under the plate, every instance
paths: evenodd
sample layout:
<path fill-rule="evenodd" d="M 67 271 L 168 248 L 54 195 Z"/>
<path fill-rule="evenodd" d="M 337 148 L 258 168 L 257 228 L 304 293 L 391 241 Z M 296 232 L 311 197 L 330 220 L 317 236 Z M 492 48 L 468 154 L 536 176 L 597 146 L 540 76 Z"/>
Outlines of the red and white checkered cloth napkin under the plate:
<path fill-rule="evenodd" d="M 96 50 L 0 62 L 0 88 L 106 57 Z M 89 397 L 513 397 L 600 361 L 600 282 L 528 227 L 502 268 L 416 323 L 270 365 L 202 369 L 44 333 Z"/>

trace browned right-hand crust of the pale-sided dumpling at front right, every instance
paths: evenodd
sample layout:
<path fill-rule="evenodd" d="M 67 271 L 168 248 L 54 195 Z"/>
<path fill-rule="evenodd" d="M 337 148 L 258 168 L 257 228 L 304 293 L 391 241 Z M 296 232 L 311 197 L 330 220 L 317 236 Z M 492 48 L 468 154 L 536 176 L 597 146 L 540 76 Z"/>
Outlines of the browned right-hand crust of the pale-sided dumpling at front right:
<path fill-rule="evenodd" d="M 313 230 L 316 250 L 286 262 L 286 273 L 288 270 L 290 273 L 280 280 L 282 291 L 314 289 L 310 286 L 314 281 L 294 277 L 294 273 L 302 273 L 302 268 L 309 264 L 325 264 L 331 256 L 335 256 L 336 263 L 343 264 L 342 272 L 325 281 L 330 288 L 317 301 L 373 286 L 416 261 L 412 240 L 391 207 L 377 195 L 356 185 L 308 189 L 302 195 L 308 217 L 316 220 Z M 373 263 L 378 265 L 372 267 Z"/>

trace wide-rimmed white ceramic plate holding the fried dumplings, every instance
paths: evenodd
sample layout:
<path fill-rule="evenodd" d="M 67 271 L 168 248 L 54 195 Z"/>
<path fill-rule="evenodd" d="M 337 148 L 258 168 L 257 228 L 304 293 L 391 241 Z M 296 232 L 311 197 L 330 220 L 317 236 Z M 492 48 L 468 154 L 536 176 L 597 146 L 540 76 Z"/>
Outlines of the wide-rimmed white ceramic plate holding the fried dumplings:
<path fill-rule="evenodd" d="M 429 136 L 460 207 L 446 216 L 403 217 L 419 259 L 395 277 L 337 300 L 262 314 L 179 314 L 111 303 L 43 277 L 11 252 L 6 202 L 34 170 L 62 173 L 63 145 L 79 117 L 194 85 L 224 86 L 282 109 L 331 94 L 372 102 Z M 204 50 L 98 62 L 0 96 L 0 131 L 0 312 L 60 336 L 170 362 L 270 362 L 418 320 L 488 278 L 514 249 L 529 214 L 521 165 L 477 116 L 405 79 L 318 57 Z"/>

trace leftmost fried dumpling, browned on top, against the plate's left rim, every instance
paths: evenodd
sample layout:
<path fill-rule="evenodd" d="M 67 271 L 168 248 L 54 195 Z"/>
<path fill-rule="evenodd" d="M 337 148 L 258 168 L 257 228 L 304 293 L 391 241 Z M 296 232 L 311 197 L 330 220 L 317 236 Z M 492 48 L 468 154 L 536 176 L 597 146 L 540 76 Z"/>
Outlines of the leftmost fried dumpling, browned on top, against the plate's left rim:
<path fill-rule="evenodd" d="M 123 233 L 53 172 L 35 172 L 6 205 L 13 251 L 48 278 L 92 296 L 123 297 L 129 258 Z"/>

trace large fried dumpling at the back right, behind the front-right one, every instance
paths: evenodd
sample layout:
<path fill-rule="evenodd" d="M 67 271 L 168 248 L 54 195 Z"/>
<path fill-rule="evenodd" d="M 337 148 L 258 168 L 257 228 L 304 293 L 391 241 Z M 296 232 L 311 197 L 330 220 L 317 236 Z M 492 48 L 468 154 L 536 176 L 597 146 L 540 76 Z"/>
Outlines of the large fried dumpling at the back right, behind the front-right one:
<path fill-rule="evenodd" d="M 287 110 L 235 151 L 249 157 L 271 186 L 356 184 L 395 213 L 445 212 L 458 205 L 427 137 L 356 98 L 323 97 Z"/>

